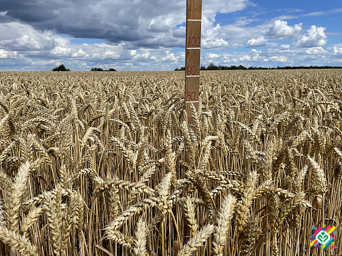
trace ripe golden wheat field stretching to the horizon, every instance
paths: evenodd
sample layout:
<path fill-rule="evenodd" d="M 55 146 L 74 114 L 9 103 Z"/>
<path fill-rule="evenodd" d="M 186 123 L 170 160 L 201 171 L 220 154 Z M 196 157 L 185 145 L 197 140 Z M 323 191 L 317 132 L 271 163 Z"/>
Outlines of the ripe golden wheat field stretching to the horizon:
<path fill-rule="evenodd" d="M 0 254 L 342 254 L 342 73 L 0 72 Z"/>

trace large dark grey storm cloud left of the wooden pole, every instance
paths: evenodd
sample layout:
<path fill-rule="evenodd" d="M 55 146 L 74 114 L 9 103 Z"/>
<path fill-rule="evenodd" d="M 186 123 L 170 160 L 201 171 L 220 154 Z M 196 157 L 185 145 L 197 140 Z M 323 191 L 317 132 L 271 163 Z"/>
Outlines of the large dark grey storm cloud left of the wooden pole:
<path fill-rule="evenodd" d="M 19 21 L 42 31 L 112 43 L 143 41 L 147 34 L 157 37 L 168 33 L 183 21 L 184 9 L 184 0 L 0 1 L 0 12 L 6 12 L 1 16 L 3 21 Z"/>

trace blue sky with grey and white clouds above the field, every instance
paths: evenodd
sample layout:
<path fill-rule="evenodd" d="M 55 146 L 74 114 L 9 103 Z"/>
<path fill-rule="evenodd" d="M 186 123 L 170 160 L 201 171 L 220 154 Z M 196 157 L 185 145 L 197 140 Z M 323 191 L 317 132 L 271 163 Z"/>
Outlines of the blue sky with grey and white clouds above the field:
<path fill-rule="evenodd" d="M 185 0 L 0 0 L 0 71 L 174 70 Z M 201 65 L 342 66 L 341 0 L 203 0 Z"/>

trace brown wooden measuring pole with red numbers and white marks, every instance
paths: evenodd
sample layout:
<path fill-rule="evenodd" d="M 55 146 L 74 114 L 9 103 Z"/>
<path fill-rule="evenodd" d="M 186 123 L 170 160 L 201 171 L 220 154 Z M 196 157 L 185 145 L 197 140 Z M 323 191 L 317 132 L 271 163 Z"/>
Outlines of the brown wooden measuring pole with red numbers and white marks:
<path fill-rule="evenodd" d="M 202 0 L 186 0 L 185 111 L 194 124 L 190 104 L 199 107 Z"/>

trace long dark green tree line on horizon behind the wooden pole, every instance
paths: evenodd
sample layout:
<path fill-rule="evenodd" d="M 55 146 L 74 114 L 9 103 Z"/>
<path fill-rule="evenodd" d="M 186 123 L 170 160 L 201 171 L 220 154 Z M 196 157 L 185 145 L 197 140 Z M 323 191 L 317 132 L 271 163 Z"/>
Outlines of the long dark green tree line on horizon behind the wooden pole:
<path fill-rule="evenodd" d="M 214 65 L 210 63 L 207 67 L 201 65 L 201 70 L 258 70 L 258 69 L 330 69 L 330 68 L 342 68 L 338 66 L 285 66 L 285 67 L 244 67 L 242 65 L 239 66 L 221 66 Z M 175 71 L 185 71 L 185 67 L 176 68 Z"/>

